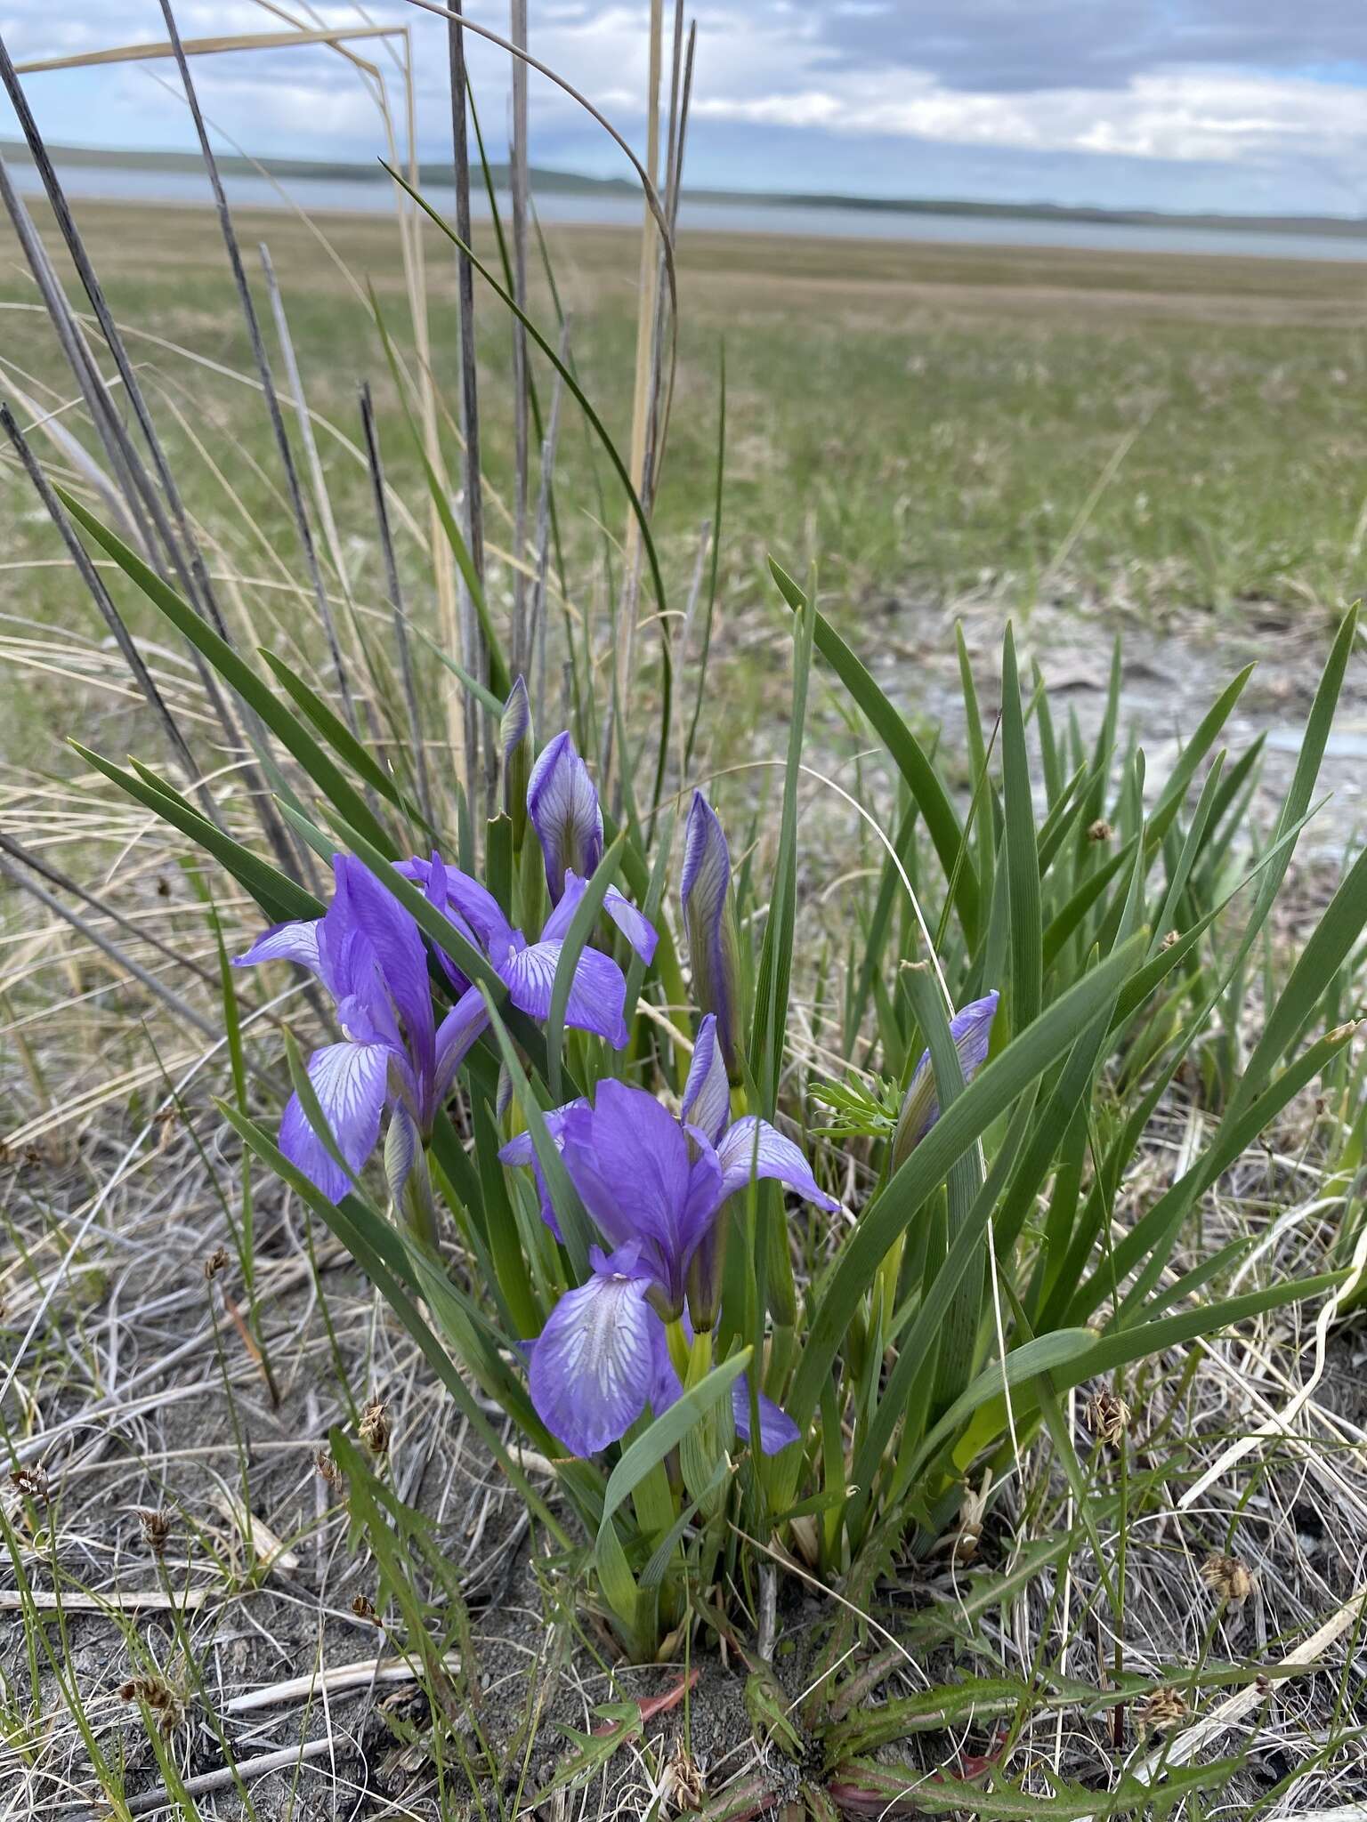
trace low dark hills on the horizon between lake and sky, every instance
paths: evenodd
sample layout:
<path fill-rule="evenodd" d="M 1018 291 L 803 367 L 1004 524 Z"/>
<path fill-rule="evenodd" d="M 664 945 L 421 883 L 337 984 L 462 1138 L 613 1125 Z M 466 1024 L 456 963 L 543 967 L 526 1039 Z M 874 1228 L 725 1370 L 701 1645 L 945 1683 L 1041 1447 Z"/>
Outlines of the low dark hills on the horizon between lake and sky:
<path fill-rule="evenodd" d="M 49 146 L 62 166 L 102 166 L 124 171 L 197 171 L 200 168 L 195 151 L 106 151 L 97 146 Z M 29 149 L 22 140 L 0 138 L 0 153 L 9 160 L 29 162 Z M 253 177 L 266 169 L 272 177 L 288 179 L 332 179 L 343 182 L 386 182 L 379 162 L 328 162 L 321 159 L 242 159 L 235 153 L 222 153 L 219 168 L 224 175 Z M 490 164 L 488 175 L 496 189 L 509 188 L 509 166 Z M 452 168 L 443 162 L 425 162 L 421 179 L 425 184 L 450 184 Z M 580 195 L 580 197 L 634 197 L 640 188 L 625 177 L 585 177 L 580 171 L 552 171 L 543 166 L 530 169 L 532 191 L 541 195 Z M 1187 215 L 1176 210 L 1101 210 L 1066 208 L 1057 202 L 973 202 L 962 199 L 939 197 L 851 197 L 829 195 L 826 191 L 773 191 L 773 189 L 685 189 L 685 200 L 693 202 L 735 202 L 766 204 L 769 208 L 824 208 L 853 210 L 875 215 L 971 215 L 986 220 L 1046 220 L 1046 222 L 1099 222 L 1128 228 L 1205 228 L 1230 230 L 1241 233 L 1287 233 L 1287 235 L 1341 235 L 1343 239 L 1367 239 L 1367 219 L 1358 215 Z"/>

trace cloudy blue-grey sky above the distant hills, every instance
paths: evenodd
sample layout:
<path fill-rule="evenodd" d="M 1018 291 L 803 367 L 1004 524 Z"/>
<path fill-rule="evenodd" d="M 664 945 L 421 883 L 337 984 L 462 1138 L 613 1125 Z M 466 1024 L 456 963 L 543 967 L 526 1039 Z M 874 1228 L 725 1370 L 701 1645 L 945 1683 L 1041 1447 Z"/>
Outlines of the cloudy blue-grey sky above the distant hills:
<path fill-rule="evenodd" d="M 355 5 L 177 0 L 184 38 L 355 26 Z M 507 0 L 467 0 L 507 31 Z M 649 4 L 529 0 L 529 47 L 643 149 Z M 1227 213 L 1367 215 L 1367 0 L 700 0 L 685 182 L 882 197 Z M 410 31 L 419 148 L 450 155 L 441 20 L 408 0 L 365 18 Z M 669 31 L 673 31 L 673 9 Z M 160 0 L 0 0 L 16 62 L 164 38 Z M 401 38 L 357 38 L 388 75 Z M 490 157 L 507 142 L 509 56 L 470 53 Z M 355 62 L 328 46 L 195 60 L 206 115 L 253 153 L 368 160 L 385 135 Z M 44 133 L 191 148 L 166 62 L 26 78 Z M 530 78 L 538 164 L 627 175 L 603 129 Z M 0 137 L 15 131 L 0 100 Z M 498 148 L 498 149 L 494 149 Z"/>

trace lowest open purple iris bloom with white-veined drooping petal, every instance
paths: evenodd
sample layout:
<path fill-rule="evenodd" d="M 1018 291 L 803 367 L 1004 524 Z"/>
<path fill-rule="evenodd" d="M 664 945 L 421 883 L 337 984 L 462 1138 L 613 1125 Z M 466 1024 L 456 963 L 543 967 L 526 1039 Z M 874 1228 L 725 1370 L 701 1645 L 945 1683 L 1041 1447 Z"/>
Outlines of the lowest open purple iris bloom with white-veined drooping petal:
<path fill-rule="evenodd" d="M 802 1152 L 766 1121 L 731 1121 L 716 1022 L 704 1020 L 684 1097 L 684 1121 L 653 1095 L 605 1080 L 591 1106 L 547 1115 L 565 1170 L 612 1252 L 591 1248 L 592 1277 L 567 1292 L 532 1345 L 530 1388 L 541 1421 L 576 1454 L 618 1441 L 647 1405 L 656 1416 L 682 1396 L 665 1319 L 691 1336 L 689 1268 L 722 1206 L 751 1177 L 776 1177 L 835 1210 Z M 705 1124 L 704 1124 L 705 1122 Z M 507 1164 L 534 1164 L 527 1133 L 503 1146 Z M 540 1181 L 540 1170 L 538 1170 Z M 545 1182 L 541 1208 L 554 1224 Z M 735 1423 L 749 1436 L 749 1388 L 733 1388 Z M 766 1454 L 797 1439 L 793 1421 L 760 1397 Z"/>

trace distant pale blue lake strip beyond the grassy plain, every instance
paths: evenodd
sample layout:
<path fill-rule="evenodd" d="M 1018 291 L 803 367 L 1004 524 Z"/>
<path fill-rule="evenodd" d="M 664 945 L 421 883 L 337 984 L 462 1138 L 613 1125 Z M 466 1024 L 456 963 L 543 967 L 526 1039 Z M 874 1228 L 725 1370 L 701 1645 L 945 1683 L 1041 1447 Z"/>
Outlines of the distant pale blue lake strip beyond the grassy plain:
<path fill-rule="evenodd" d="M 200 171 L 148 171 L 113 164 L 60 164 L 62 182 L 73 199 L 109 202 L 200 202 L 210 186 Z M 15 160 L 18 189 L 35 195 L 38 173 Z M 281 180 L 292 202 L 310 215 L 330 211 L 386 213 L 390 188 L 355 177 L 290 177 Z M 241 208 L 283 208 L 277 189 L 264 177 L 226 177 L 228 200 Z M 427 199 L 443 215 L 454 211 L 454 193 L 430 186 Z M 472 195 L 476 215 L 488 215 L 483 191 Z M 499 197 L 499 210 L 509 199 Z M 567 195 L 536 197 L 545 222 L 581 222 L 594 228 L 634 228 L 642 204 L 632 197 Z M 1254 259 L 1345 259 L 1367 261 L 1367 235 L 1269 233 L 1241 228 L 1183 228 L 1181 224 L 1030 220 L 1026 217 L 915 215 L 897 210 L 848 210 L 778 202 L 684 202 L 680 226 L 714 233 L 776 233 L 846 237 L 853 241 L 951 241 L 966 246 L 1077 246 L 1117 253 L 1230 253 Z"/>

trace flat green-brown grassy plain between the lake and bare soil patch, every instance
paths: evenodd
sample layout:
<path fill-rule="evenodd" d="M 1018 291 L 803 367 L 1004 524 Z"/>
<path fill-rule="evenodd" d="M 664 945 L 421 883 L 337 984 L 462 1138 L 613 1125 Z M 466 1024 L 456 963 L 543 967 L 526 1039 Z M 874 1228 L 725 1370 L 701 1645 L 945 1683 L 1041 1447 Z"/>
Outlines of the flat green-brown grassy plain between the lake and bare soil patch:
<path fill-rule="evenodd" d="M 257 497 L 250 479 L 235 479 L 246 508 L 284 534 L 252 390 L 148 339 L 250 368 L 215 222 L 208 211 L 109 204 L 82 206 L 80 219 L 120 319 L 139 324 L 139 353 L 211 446 L 241 443 L 262 459 Z M 312 406 L 355 435 L 355 383 L 370 377 L 388 399 L 365 297 L 303 224 L 242 211 L 237 226 L 248 248 L 270 241 Z M 330 217 L 321 228 L 399 324 L 392 224 Z M 556 226 L 547 242 L 572 313 L 578 372 L 625 443 L 636 235 Z M 33 302 L 13 244 L 0 248 L 0 299 Z M 427 251 L 434 364 L 454 395 L 454 277 L 434 230 Z M 1055 592 L 1121 592 L 1154 610 L 1307 596 L 1334 603 L 1356 592 L 1354 530 L 1367 497 L 1365 264 L 694 233 L 680 246 L 678 284 L 660 530 L 687 568 L 711 512 L 725 344 L 724 556 L 733 592 L 758 579 L 766 548 L 795 561 L 818 554 L 826 587 L 849 603 L 953 596 L 984 578 L 1028 603 L 1061 554 Z M 509 332 L 503 310 L 487 304 L 490 399 L 507 370 Z M 554 339 L 543 284 L 534 312 Z M 7 315 L 4 346 L 7 363 L 57 381 L 36 312 Z M 487 410 L 494 432 L 496 417 Z M 591 512 L 596 503 L 565 481 L 580 435 L 570 419 L 561 488 L 572 508 Z M 494 434 L 496 485 L 507 472 L 505 441 Z M 386 457 L 396 479 L 414 474 L 392 417 Z M 195 505 L 231 541 L 233 514 L 197 466 L 204 488 Z M 330 472 L 344 466 L 339 459 Z M 611 514 L 616 528 L 616 501 Z M 569 523 L 583 521 L 570 510 Z M 18 554 L 36 556 L 46 543 L 35 528 L 31 552 Z"/>

